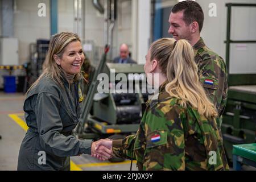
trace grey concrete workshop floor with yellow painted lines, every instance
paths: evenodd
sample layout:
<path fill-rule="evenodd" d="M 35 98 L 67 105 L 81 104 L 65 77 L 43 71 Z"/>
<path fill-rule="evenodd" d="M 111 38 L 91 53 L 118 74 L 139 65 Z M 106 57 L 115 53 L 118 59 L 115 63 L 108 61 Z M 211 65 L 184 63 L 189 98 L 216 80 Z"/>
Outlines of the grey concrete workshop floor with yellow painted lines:
<path fill-rule="evenodd" d="M 26 131 L 11 118 L 10 114 L 24 124 L 23 94 L 5 94 L 0 92 L 0 171 L 15 171 L 18 163 L 19 147 Z M 16 119 L 17 120 L 17 119 Z M 24 125 L 26 127 L 26 125 Z M 72 169 L 84 171 L 129 171 L 130 161 L 122 163 L 100 162 L 89 155 L 71 158 L 75 165 Z M 245 170 L 256 168 L 243 166 Z M 133 170 L 137 171 L 136 164 Z"/>

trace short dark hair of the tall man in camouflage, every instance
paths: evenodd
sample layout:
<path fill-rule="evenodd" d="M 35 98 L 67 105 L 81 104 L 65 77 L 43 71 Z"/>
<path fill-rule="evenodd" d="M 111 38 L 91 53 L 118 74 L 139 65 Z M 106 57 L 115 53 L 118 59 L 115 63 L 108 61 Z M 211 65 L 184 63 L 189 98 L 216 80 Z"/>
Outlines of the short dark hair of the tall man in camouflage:
<path fill-rule="evenodd" d="M 182 1 L 177 3 L 172 9 L 172 13 L 183 11 L 183 20 L 189 25 L 192 22 L 199 24 L 199 31 L 201 32 L 204 24 L 204 12 L 199 3 L 195 1 Z"/>

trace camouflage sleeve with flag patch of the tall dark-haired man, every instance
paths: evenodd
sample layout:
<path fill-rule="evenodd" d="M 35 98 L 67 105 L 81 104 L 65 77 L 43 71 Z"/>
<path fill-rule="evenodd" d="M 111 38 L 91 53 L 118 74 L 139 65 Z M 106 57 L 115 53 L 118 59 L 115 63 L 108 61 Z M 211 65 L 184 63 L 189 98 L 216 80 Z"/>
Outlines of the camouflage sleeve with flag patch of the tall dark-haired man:
<path fill-rule="evenodd" d="M 200 82 L 210 100 L 216 105 L 218 115 L 224 112 L 228 96 L 228 73 L 219 56 L 205 56 L 199 65 Z"/>

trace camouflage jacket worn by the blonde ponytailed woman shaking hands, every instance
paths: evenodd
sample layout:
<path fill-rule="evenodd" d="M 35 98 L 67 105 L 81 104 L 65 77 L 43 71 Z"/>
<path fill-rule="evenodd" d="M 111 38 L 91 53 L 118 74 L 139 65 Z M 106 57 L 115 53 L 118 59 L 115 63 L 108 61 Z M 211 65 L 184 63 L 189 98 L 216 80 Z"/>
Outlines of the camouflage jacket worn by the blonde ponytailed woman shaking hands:
<path fill-rule="evenodd" d="M 147 102 L 137 134 L 113 140 L 113 154 L 137 160 L 139 170 L 229 169 L 216 119 L 184 109 L 165 87 Z"/>

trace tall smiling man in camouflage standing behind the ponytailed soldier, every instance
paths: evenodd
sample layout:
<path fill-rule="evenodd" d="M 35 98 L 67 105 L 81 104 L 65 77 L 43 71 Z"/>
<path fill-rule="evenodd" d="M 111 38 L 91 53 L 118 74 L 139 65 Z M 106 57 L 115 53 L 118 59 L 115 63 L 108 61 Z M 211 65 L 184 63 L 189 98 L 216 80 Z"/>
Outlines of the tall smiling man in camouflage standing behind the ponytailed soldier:
<path fill-rule="evenodd" d="M 204 13 L 201 6 L 194 1 L 177 3 L 169 18 L 169 34 L 174 39 L 186 39 L 195 50 L 195 61 L 199 68 L 199 77 L 210 100 L 216 105 L 218 128 L 221 128 L 228 95 L 228 75 L 224 60 L 205 46 L 200 38 L 204 24 Z"/>

